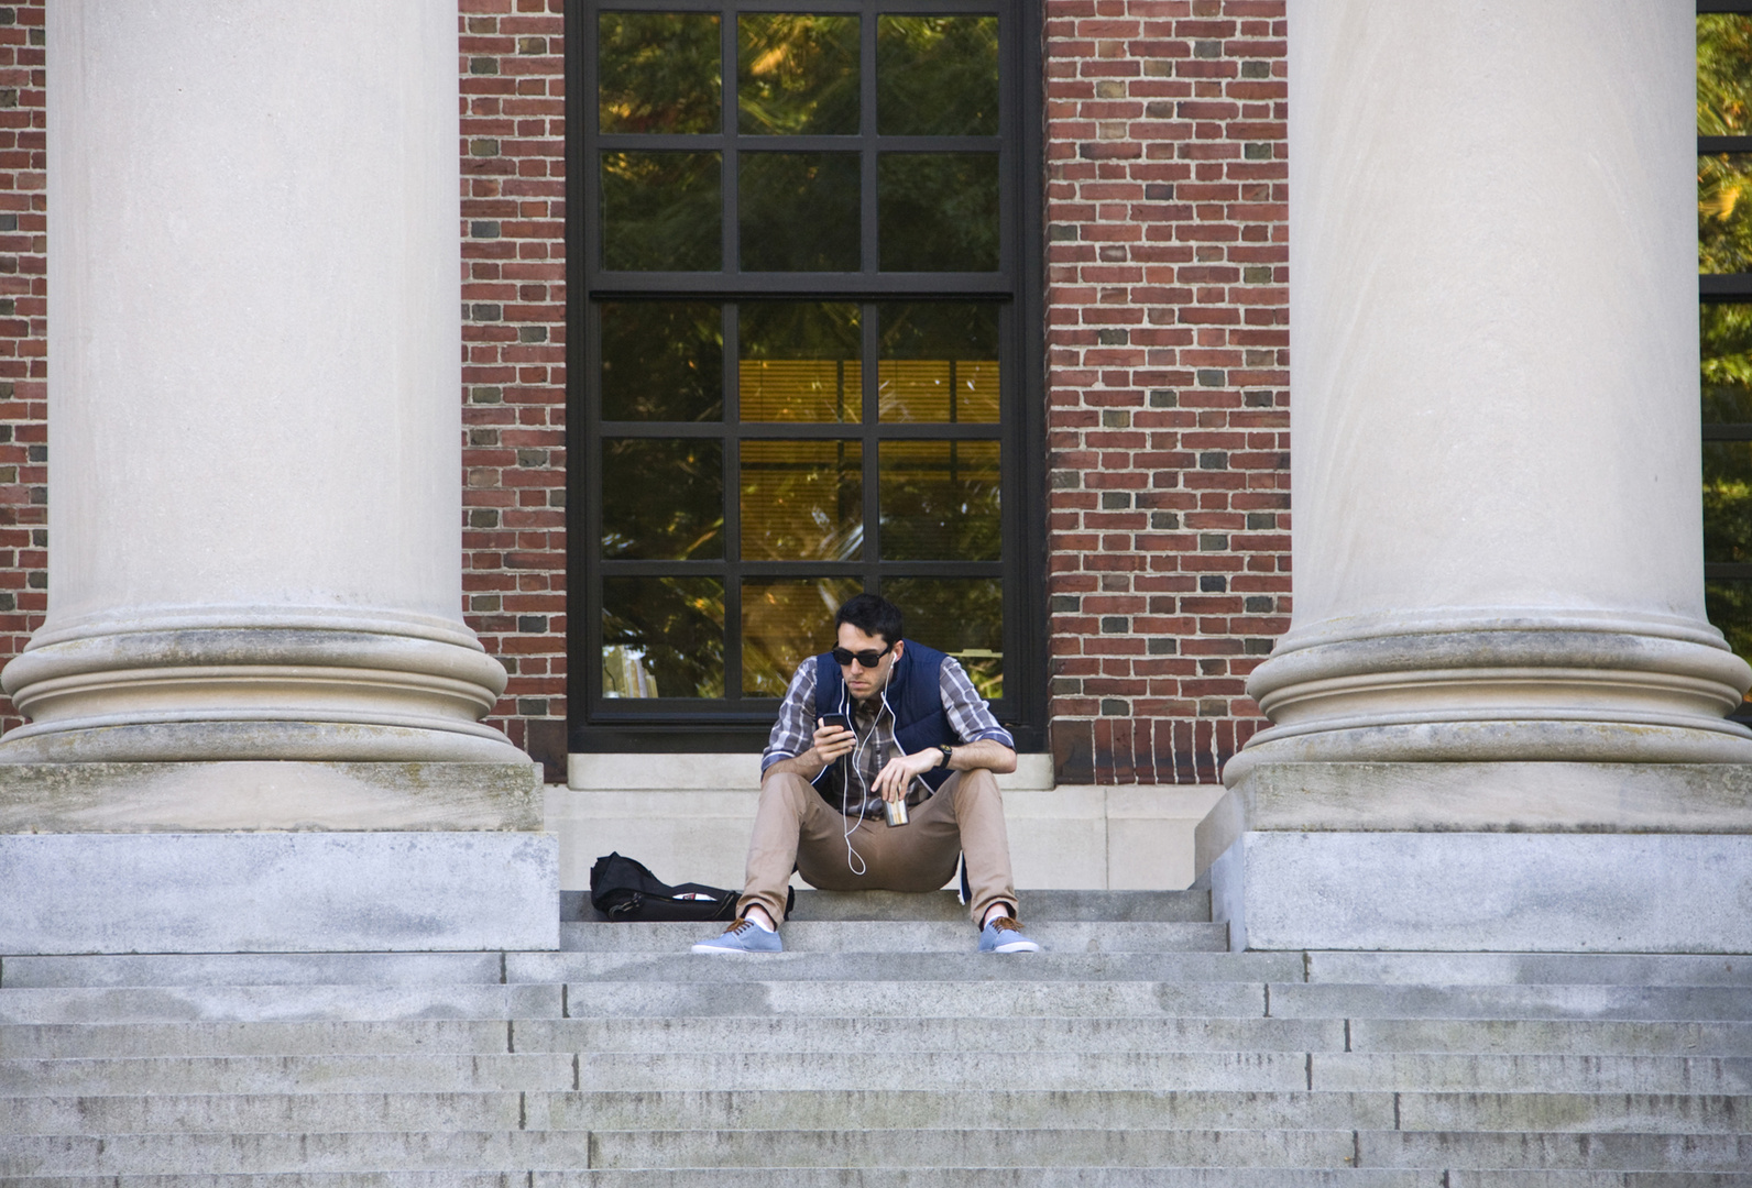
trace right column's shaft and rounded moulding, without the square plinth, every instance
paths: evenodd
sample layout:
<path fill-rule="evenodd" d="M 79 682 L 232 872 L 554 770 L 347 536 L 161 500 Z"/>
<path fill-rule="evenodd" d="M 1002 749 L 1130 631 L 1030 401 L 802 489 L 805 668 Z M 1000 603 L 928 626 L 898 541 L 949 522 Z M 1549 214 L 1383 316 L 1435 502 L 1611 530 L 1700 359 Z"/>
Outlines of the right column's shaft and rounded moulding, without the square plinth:
<path fill-rule="evenodd" d="M 1275 759 L 1747 760 L 1703 613 L 1694 32 L 1295 0 Z"/>

